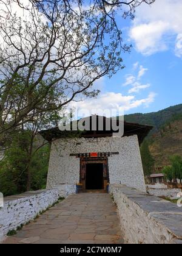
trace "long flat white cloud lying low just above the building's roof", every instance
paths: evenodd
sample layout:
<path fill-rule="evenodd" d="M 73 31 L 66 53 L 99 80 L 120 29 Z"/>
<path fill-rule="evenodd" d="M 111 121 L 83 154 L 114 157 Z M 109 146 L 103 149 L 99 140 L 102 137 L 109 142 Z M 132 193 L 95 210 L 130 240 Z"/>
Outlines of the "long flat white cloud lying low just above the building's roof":
<path fill-rule="evenodd" d="M 71 107 L 76 107 L 80 110 L 87 110 L 90 114 L 103 115 L 103 110 L 117 109 L 121 112 L 130 110 L 132 108 L 148 107 L 155 99 L 155 93 L 149 93 L 147 98 L 136 99 L 135 96 L 124 96 L 121 93 L 107 92 L 100 94 L 97 98 L 85 99 L 79 102 L 72 102 Z"/>

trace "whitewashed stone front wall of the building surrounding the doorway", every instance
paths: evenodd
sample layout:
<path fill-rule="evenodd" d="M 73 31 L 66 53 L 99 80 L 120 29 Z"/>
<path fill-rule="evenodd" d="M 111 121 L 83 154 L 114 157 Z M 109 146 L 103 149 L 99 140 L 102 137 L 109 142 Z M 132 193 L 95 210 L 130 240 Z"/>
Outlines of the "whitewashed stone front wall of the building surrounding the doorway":
<path fill-rule="evenodd" d="M 108 157 L 110 183 L 121 183 L 146 191 L 137 135 L 67 138 L 54 141 L 50 153 L 47 188 L 56 188 L 64 184 L 76 185 L 79 182 L 80 160 L 70 154 L 90 152 L 119 152 L 118 155 Z"/>

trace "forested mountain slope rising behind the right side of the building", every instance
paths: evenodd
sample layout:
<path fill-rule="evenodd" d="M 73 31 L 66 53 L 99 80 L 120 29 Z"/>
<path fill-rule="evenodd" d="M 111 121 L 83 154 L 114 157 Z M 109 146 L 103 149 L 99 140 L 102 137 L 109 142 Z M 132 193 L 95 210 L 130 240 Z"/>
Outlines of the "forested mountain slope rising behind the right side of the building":
<path fill-rule="evenodd" d="M 182 156 L 182 104 L 159 112 L 126 115 L 125 120 L 153 126 L 146 140 L 155 167 L 169 165 L 169 157 L 172 155 Z"/>

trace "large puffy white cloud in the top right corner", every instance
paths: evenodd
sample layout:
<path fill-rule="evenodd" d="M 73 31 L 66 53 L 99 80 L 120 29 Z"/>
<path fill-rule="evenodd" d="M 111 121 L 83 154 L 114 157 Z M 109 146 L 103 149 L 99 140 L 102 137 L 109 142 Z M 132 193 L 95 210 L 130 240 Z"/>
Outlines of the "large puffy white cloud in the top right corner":
<path fill-rule="evenodd" d="M 130 38 L 135 41 L 136 50 L 151 55 L 169 49 L 171 37 L 181 37 L 181 13 L 181 0 L 160 0 L 152 5 L 143 4 L 136 9 L 136 18 L 129 33 Z M 178 43 L 177 41 L 175 54 L 181 57 Z"/>

